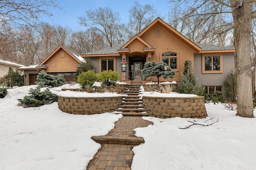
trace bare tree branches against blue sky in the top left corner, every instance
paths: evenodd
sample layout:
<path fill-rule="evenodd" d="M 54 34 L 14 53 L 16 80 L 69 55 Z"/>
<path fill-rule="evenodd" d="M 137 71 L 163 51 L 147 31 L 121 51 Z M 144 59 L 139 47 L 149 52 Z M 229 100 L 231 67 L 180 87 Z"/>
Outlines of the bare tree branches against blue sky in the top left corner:
<path fill-rule="evenodd" d="M 58 0 L 0 0 L 0 25 L 35 26 L 40 16 L 52 16 L 49 6 L 60 8 Z"/>

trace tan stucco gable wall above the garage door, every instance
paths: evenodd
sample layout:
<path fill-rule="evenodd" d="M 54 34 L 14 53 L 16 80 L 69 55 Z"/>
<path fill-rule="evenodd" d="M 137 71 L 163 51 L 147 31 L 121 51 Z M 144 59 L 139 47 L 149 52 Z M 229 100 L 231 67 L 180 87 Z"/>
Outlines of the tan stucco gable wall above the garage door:
<path fill-rule="evenodd" d="M 61 54 L 63 52 L 64 57 L 62 57 L 63 55 Z M 70 56 L 66 51 L 61 49 L 44 64 L 48 66 L 48 69 L 46 70 L 47 73 L 76 72 L 76 65 L 78 65 L 79 62 L 76 61 L 76 59 L 74 59 L 72 56 Z"/>

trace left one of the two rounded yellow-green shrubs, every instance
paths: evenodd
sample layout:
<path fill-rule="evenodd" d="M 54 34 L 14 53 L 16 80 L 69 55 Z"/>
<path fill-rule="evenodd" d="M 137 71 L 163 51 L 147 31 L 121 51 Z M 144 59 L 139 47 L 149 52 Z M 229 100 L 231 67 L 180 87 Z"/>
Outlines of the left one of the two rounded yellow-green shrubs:
<path fill-rule="evenodd" d="M 95 82 L 96 74 L 93 70 L 82 72 L 78 75 L 77 82 L 84 88 L 91 86 Z"/>

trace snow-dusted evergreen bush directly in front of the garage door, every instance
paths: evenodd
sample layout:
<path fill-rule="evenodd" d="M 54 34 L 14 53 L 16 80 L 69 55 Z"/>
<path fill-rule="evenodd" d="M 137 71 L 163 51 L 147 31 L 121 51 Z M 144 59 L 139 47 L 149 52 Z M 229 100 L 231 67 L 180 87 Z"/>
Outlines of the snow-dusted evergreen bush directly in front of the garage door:
<path fill-rule="evenodd" d="M 61 85 L 66 84 L 66 80 L 64 79 L 64 75 L 50 75 L 46 74 L 44 71 L 41 71 L 41 73 L 38 74 L 36 78 L 36 84 L 39 85 L 40 87 L 59 87 Z"/>

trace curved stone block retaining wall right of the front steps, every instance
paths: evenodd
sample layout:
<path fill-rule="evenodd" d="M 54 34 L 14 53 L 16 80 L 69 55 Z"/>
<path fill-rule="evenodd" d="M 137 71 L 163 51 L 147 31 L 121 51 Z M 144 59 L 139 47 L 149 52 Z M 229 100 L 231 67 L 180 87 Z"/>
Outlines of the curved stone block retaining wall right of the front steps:
<path fill-rule="evenodd" d="M 205 118 L 204 96 L 200 97 L 143 97 L 143 105 L 152 117 Z"/>

